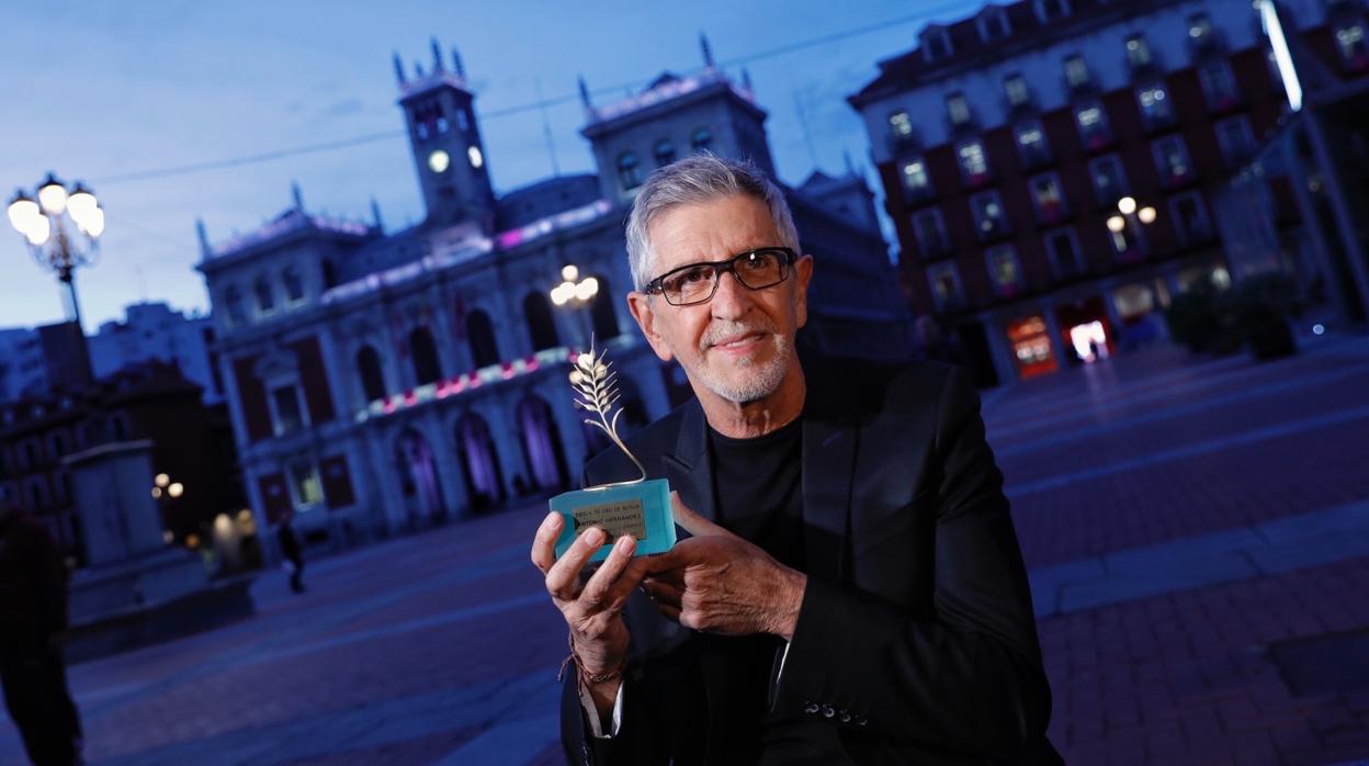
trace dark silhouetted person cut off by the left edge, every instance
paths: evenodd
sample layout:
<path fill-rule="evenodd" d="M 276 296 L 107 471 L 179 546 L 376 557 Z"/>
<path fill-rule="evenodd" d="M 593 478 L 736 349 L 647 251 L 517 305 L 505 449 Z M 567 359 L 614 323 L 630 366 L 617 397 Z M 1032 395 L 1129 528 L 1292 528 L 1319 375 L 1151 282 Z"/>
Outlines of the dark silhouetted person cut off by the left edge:
<path fill-rule="evenodd" d="M 0 681 L 38 766 L 81 763 L 81 718 L 67 689 L 66 565 L 42 523 L 0 488 Z"/>

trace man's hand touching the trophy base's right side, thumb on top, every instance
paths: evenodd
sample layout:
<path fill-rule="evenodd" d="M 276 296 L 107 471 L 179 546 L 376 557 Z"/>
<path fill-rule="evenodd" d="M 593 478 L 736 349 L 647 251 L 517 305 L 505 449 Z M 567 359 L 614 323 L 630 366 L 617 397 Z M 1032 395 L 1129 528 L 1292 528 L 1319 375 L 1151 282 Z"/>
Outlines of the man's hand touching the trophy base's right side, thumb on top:
<path fill-rule="evenodd" d="M 671 504 L 693 537 L 648 559 L 642 589 L 661 614 L 708 633 L 793 639 L 808 577 L 695 514 L 675 492 Z"/>

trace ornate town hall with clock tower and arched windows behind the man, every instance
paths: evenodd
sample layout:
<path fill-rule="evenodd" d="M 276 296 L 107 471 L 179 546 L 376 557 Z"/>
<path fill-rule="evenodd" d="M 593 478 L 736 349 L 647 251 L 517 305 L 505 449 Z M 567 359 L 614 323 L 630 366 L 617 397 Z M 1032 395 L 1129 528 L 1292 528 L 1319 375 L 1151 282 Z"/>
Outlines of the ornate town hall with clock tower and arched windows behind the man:
<path fill-rule="evenodd" d="M 567 382 L 591 333 L 619 370 L 628 430 L 687 395 L 627 312 L 623 221 L 645 174 L 691 151 L 772 170 L 765 112 L 706 64 L 608 106 L 582 89 L 598 173 L 501 196 L 460 58 L 434 44 L 430 71 L 396 60 L 420 225 L 326 219 L 297 193 L 233 241 L 211 244 L 201 226 L 211 351 L 261 528 L 294 514 L 311 540 L 349 544 L 576 485 L 606 445 Z M 873 211 L 841 212 L 862 199 L 849 185 L 819 192 L 789 189 L 821 274 L 809 343 L 904 354 L 905 310 Z M 553 307 L 564 266 L 598 280 L 589 308 Z"/>

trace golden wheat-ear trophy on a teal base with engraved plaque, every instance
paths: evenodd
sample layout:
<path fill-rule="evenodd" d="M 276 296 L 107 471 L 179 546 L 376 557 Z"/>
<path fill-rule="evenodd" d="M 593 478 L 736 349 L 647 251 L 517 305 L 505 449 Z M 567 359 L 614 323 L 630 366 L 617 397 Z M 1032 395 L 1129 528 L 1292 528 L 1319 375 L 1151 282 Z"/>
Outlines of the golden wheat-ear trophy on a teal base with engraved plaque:
<path fill-rule="evenodd" d="M 628 481 L 563 492 L 552 497 L 552 510 L 565 517 L 561 536 L 556 539 L 557 558 L 565 554 L 586 526 L 597 526 L 606 533 L 604 545 L 590 556 L 591 562 L 608 558 L 613 543 L 624 534 L 631 534 L 637 540 L 635 555 L 639 556 L 664 554 L 675 545 L 669 484 L 664 478 L 648 480 L 642 462 L 617 436 L 617 418 L 623 414 L 622 408 L 613 411 L 619 397 L 613 382 L 617 373 L 611 371 L 611 365 L 604 362 L 605 354 L 596 356 L 594 343 L 590 341 L 590 351 L 575 358 L 575 369 L 571 370 L 571 386 L 576 393 L 575 406 L 590 415 L 585 422 L 606 433 L 609 440 L 632 460 L 641 475 Z"/>

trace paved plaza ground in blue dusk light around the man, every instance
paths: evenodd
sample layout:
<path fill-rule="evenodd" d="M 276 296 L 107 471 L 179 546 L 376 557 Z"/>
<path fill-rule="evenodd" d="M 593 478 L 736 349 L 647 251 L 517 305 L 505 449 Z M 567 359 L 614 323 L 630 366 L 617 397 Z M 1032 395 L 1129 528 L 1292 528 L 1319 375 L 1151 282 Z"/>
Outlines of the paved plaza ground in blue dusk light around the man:
<path fill-rule="evenodd" d="M 1369 759 L 1369 678 L 1336 665 L 1369 663 L 1366 392 L 1350 337 L 1264 365 L 1154 349 L 986 393 L 1071 763 Z M 316 562 L 298 597 L 270 571 L 249 619 L 73 667 L 86 755 L 560 762 L 564 628 L 527 562 L 543 512 Z M 21 762 L 0 721 L 0 763 Z"/>

